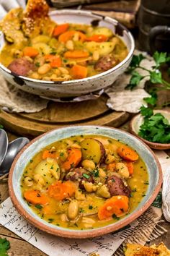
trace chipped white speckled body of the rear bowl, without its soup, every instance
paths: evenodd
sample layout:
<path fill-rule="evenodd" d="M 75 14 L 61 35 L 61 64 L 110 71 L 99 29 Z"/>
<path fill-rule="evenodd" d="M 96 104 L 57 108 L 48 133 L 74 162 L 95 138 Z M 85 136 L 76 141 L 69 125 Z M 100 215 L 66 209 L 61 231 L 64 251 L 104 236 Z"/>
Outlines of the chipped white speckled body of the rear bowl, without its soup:
<path fill-rule="evenodd" d="M 15 85 L 17 88 L 24 90 L 28 93 L 48 97 L 48 98 L 68 98 L 79 95 L 86 95 L 102 88 L 107 88 L 112 85 L 117 79 L 117 76 L 125 72 L 125 69 L 130 64 L 133 57 L 135 43 L 133 36 L 128 29 L 122 26 L 117 20 L 102 15 L 93 14 L 92 12 L 79 11 L 79 10 L 60 10 L 50 12 L 50 17 L 55 22 L 64 23 L 83 23 L 91 24 L 94 20 L 99 20 L 99 26 L 109 27 L 114 33 L 120 36 L 128 47 L 128 56 L 120 62 L 116 67 L 102 72 L 101 74 L 87 77 L 81 80 L 71 80 L 65 82 L 53 82 L 35 80 L 29 77 L 17 76 L 9 69 L 0 63 L 0 72 L 4 75 L 6 80 Z M 5 43 L 3 33 L 0 34 L 0 51 Z"/>

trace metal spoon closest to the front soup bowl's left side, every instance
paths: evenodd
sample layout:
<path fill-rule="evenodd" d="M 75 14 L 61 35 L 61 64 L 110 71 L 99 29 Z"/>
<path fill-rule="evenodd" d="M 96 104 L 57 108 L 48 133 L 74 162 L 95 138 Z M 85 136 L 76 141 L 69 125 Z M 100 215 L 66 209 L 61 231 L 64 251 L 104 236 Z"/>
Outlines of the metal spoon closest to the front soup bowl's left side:
<path fill-rule="evenodd" d="M 28 142 L 30 142 L 30 140 L 27 138 L 20 137 L 9 143 L 6 156 L 0 166 L 0 176 L 9 172 L 9 169 L 12 166 L 12 162 L 14 161 L 17 153 L 19 153 L 19 151 L 22 150 L 24 145 L 27 145 Z"/>

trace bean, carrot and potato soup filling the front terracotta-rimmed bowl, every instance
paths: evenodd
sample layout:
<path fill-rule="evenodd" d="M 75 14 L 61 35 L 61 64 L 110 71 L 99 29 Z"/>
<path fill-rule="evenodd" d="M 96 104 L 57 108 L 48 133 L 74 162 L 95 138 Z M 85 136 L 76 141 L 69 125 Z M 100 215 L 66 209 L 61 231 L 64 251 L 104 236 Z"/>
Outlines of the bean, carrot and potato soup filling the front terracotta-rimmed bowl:
<path fill-rule="evenodd" d="M 131 213 L 148 189 L 138 153 L 110 137 L 81 135 L 42 149 L 24 170 L 22 195 L 45 221 L 94 229 Z"/>

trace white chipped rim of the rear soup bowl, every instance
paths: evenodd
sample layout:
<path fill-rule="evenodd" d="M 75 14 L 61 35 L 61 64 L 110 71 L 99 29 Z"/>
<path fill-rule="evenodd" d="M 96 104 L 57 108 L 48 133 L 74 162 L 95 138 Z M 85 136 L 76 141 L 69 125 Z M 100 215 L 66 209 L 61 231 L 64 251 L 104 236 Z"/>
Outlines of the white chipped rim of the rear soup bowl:
<path fill-rule="evenodd" d="M 84 11 L 84 10 L 69 10 L 69 9 L 62 9 L 62 10 L 54 10 L 54 11 L 51 11 L 49 12 L 49 15 L 52 15 L 52 14 L 58 14 L 58 13 L 63 13 L 63 14 L 86 14 L 88 16 L 91 16 L 91 15 L 95 15 L 96 17 L 99 17 L 100 20 L 101 18 L 103 20 L 109 20 L 111 21 L 112 23 L 115 22 L 115 24 L 119 25 L 120 27 L 122 27 L 123 30 L 125 30 L 128 34 L 128 38 L 130 39 L 130 51 L 128 53 L 128 56 L 126 56 L 125 59 L 123 59 L 119 64 L 117 64 L 115 67 L 112 67 L 112 69 L 109 69 L 105 72 L 102 72 L 100 74 L 96 74 L 92 77 L 86 77 L 86 78 L 83 78 L 83 79 L 79 79 L 79 80 L 68 80 L 68 81 L 63 81 L 63 82 L 55 82 L 55 81 L 45 81 L 45 80 L 35 80 L 33 78 L 30 78 L 30 77 L 24 77 L 24 76 L 21 76 L 21 75 L 17 75 L 13 72 L 11 72 L 11 70 L 9 70 L 8 68 L 4 67 L 3 64 L 0 63 L 0 69 L 2 69 L 4 72 L 7 72 L 8 74 L 10 75 L 13 75 L 14 77 L 19 77 L 20 79 L 22 80 L 25 80 L 25 81 L 28 81 L 28 82 L 35 82 L 35 86 L 36 84 L 38 83 L 41 83 L 41 84 L 47 84 L 49 87 L 50 85 L 58 85 L 59 87 L 60 86 L 63 86 L 63 85 L 67 85 L 67 84 L 76 84 L 76 83 L 81 83 L 81 82 L 91 82 L 93 80 L 97 80 L 107 74 L 111 74 L 112 72 L 115 72 L 117 69 L 120 69 L 124 64 L 126 64 L 129 59 L 133 56 L 133 52 L 135 51 L 135 40 L 133 38 L 133 35 L 130 33 L 130 31 L 128 30 L 128 28 L 126 28 L 124 25 L 122 25 L 120 22 L 118 22 L 117 20 L 115 20 L 114 18 L 111 18 L 111 17 L 108 17 L 108 16 L 104 16 L 102 14 L 96 14 L 94 12 L 90 12 L 90 11 Z M 3 34 L 2 32 L 0 33 L 0 35 Z"/>

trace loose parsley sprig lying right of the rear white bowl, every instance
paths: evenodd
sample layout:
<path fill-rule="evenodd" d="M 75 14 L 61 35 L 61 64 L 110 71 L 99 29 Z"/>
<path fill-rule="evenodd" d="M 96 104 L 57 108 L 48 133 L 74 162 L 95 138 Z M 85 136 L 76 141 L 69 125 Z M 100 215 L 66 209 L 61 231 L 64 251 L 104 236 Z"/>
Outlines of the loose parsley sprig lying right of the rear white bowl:
<path fill-rule="evenodd" d="M 167 56 L 166 53 L 158 53 L 158 51 L 156 51 L 155 54 L 153 54 L 153 59 L 156 64 L 154 67 L 152 67 L 152 69 L 146 69 L 145 67 L 141 66 L 140 62 L 143 59 L 145 59 L 143 54 L 133 56 L 128 69 L 128 73 L 132 74 L 132 77 L 130 78 L 130 83 L 126 86 L 126 89 L 133 90 L 133 88 L 135 88 L 144 77 L 148 77 L 148 80 L 150 80 L 151 83 L 161 83 L 164 85 L 163 89 L 170 90 L 170 83 L 163 79 L 160 71 L 161 64 L 169 62 L 170 56 Z M 135 69 L 143 69 L 148 73 L 146 75 L 141 75 Z"/>

